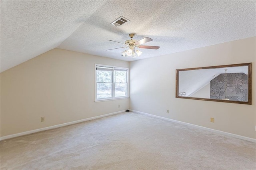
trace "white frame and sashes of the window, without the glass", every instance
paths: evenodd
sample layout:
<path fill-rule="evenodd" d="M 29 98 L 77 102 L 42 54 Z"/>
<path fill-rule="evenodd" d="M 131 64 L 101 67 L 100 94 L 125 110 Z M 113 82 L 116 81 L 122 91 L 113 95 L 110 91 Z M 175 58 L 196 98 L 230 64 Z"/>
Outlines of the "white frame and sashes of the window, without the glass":
<path fill-rule="evenodd" d="M 112 94 L 111 94 L 112 97 L 97 99 L 97 66 L 113 68 L 113 73 L 112 73 Z M 116 82 L 114 81 L 114 69 L 126 69 L 127 70 L 127 77 L 126 77 L 126 81 L 127 81 L 127 89 L 126 89 L 126 91 L 127 91 L 127 93 L 126 93 L 126 96 L 115 97 L 115 83 Z M 113 65 L 95 64 L 95 102 L 117 100 L 117 99 L 125 99 L 125 98 L 129 98 L 129 68 L 117 67 L 117 66 L 113 66 Z"/>

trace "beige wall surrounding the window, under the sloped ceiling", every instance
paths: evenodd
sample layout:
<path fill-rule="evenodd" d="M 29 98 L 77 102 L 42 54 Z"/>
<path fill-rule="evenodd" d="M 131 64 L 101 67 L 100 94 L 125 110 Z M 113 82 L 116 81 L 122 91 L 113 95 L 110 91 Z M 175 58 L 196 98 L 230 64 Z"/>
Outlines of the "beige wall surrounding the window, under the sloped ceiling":
<path fill-rule="evenodd" d="M 128 109 L 129 99 L 94 102 L 95 63 L 129 67 L 127 61 L 52 49 L 2 72 L 1 136 Z"/>

